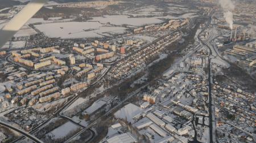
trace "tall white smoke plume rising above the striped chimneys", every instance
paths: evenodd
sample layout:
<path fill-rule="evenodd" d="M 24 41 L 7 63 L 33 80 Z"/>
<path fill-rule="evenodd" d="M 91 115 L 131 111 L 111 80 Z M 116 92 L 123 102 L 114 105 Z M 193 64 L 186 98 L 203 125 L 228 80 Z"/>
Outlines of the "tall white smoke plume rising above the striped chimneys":
<path fill-rule="evenodd" d="M 229 24 L 230 29 L 233 29 L 233 13 L 232 11 L 235 8 L 234 3 L 231 0 L 218 0 L 218 3 L 224 11 L 224 18 Z"/>

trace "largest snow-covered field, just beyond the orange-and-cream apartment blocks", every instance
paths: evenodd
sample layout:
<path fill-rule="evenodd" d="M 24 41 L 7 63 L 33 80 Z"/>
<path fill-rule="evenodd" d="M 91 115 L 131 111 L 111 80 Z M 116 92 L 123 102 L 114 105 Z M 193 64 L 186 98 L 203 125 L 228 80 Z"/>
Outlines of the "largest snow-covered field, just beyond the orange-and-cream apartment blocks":
<path fill-rule="evenodd" d="M 122 34 L 126 32 L 126 28 L 124 27 L 107 27 L 93 21 L 48 23 L 35 25 L 35 27 L 51 38 L 104 37 L 110 36 L 110 34 Z"/>

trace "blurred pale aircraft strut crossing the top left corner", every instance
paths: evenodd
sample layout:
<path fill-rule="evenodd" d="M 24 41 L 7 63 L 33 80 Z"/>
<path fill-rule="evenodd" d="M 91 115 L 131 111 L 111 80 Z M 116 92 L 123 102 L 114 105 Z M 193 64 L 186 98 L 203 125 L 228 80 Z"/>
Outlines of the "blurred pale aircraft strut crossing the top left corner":
<path fill-rule="evenodd" d="M 0 47 L 6 44 L 19 29 L 27 23 L 46 4 L 48 0 L 34 0 L 28 3 L 2 29 L 0 29 Z"/>

